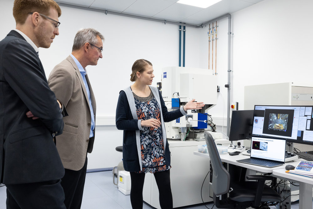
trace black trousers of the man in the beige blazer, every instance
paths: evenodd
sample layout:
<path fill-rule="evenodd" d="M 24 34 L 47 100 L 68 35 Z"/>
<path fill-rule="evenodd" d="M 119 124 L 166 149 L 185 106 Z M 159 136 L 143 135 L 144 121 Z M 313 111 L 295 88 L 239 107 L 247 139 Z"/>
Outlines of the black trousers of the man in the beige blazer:
<path fill-rule="evenodd" d="M 87 156 L 85 164 L 80 170 L 65 169 L 65 175 L 62 178 L 61 185 L 65 193 L 64 204 L 67 209 L 79 209 L 83 199 L 86 171 Z"/>

